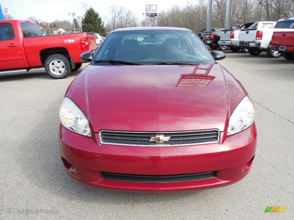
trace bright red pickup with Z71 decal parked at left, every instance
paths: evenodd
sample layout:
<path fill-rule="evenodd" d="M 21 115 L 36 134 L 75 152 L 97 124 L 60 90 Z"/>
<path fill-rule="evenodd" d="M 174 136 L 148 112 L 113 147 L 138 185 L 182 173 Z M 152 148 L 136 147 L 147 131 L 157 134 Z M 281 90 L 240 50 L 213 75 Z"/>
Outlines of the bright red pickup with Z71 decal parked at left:
<path fill-rule="evenodd" d="M 45 67 L 50 77 L 63 79 L 81 67 L 82 53 L 96 47 L 87 33 L 43 36 L 34 22 L 0 21 L 0 75 Z"/>

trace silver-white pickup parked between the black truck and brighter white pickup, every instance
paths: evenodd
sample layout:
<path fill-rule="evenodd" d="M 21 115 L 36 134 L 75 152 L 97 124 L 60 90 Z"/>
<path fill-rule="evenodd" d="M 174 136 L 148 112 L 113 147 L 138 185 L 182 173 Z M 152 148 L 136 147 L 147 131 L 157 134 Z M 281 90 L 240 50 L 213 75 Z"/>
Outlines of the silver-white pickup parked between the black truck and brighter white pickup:
<path fill-rule="evenodd" d="M 238 52 L 241 50 L 243 53 L 248 53 L 248 49 L 241 48 L 239 45 L 239 34 L 241 29 L 246 29 L 250 27 L 254 22 L 246 23 L 244 25 L 234 25 L 230 29 L 221 30 L 219 45 L 225 45 L 230 48 L 233 52 Z"/>

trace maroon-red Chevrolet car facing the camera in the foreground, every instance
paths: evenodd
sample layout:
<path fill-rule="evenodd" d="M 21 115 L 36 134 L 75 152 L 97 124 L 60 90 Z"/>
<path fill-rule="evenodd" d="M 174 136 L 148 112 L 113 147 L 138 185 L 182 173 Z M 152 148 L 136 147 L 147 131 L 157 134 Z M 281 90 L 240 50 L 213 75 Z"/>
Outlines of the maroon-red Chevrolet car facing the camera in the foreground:
<path fill-rule="evenodd" d="M 143 38 L 143 40 L 142 40 Z M 138 40 L 140 39 L 140 40 Z M 67 173 L 93 187 L 176 192 L 225 186 L 255 156 L 254 105 L 186 28 L 117 29 L 60 104 Z"/>

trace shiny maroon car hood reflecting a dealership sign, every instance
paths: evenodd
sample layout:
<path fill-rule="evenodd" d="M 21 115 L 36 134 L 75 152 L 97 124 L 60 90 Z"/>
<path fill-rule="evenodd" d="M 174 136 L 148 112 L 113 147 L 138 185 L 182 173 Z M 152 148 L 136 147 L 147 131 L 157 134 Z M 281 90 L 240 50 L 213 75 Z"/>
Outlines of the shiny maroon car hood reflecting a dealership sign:
<path fill-rule="evenodd" d="M 83 70 L 68 96 L 94 132 L 224 131 L 246 94 L 219 64 L 93 66 Z"/>

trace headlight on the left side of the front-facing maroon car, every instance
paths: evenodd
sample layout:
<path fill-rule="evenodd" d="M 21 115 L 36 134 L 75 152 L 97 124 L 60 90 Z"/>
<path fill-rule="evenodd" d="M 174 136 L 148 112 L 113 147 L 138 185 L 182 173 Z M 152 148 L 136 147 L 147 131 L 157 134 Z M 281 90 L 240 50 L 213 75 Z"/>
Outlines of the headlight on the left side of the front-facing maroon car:
<path fill-rule="evenodd" d="M 83 111 L 69 97 L 65 97 L 59 106 L 61 124 L 78 134 L 91 137 L 89 121 Z"/>

